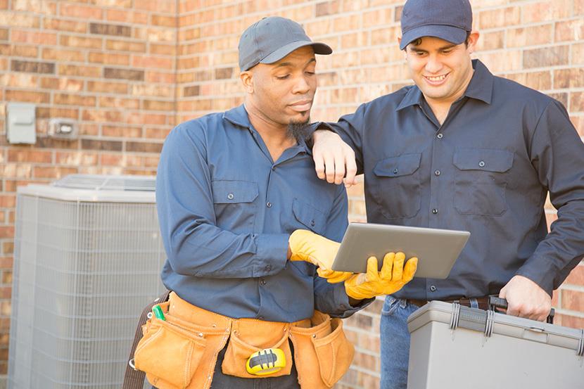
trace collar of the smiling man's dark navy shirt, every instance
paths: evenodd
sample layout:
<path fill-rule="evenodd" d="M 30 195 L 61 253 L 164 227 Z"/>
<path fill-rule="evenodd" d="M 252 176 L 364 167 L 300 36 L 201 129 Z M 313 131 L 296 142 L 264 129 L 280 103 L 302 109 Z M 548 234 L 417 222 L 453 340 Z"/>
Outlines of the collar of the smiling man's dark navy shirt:
<path fill-rule="evenodd" d="M 466 87 L 466 91 L 464 91 L 464 96 L 475 98 L 476 100 L 481 100 L 490 104 L 491 98 L 493 97 L 493 80 L 495 77 L 478 59 L 472 60 L 472 66 L 474 68 L 474 74 L 471 78 L 471 82 L 469 82 L 469 86 Z M 423 99 L 424 95 L 421 93 L 420 89 L 414 85 L 413 87 L 410 87 L 402 98 L 400 105 L 398 108 L 395 108 L 395 110 L 402 110 L 403 108 L 414 105 L 421 106 L 421 101 Z"/>

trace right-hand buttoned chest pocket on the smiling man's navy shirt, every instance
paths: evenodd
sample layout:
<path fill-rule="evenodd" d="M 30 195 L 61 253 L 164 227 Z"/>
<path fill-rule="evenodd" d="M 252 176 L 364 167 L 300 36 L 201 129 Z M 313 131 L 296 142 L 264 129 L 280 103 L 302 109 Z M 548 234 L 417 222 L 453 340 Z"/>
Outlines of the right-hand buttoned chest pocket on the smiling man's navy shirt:
<path fill-rule="evenodd" d="M 507 210 L 507 173 L 514 153 L 485 148 L 459 148 L 455 169 L 455 209 L 462 215 L 500 216 Z"/>

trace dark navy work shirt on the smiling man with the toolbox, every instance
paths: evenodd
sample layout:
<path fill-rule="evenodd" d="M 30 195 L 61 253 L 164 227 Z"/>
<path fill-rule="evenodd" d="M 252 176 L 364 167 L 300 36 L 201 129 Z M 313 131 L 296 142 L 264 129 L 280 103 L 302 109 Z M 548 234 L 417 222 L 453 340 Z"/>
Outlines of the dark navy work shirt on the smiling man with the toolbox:
<path fill-rule="evenodd" d="M 584 144 L 566 109 L 473 66 L 443 125 L 416 86 L 331 124 L 364 172 L 369 222 L 471 231 L 448 279 L 414 279 L 398 298 L 499 293 L 516 274 L 551 294 L 584 255 Z"/>

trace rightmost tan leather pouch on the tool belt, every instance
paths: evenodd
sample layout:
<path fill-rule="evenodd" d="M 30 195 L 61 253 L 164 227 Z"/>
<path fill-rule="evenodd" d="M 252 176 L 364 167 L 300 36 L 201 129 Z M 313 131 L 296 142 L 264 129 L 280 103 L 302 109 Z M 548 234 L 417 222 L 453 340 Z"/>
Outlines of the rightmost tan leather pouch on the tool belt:
<path fill-rule="evenodd" d="M 302 389 L 332 388 L 349 369 L 355 347 L 343 332 L 343 321 L 315 311 L 310 328 L 292 326 L 294 361 Z"/>

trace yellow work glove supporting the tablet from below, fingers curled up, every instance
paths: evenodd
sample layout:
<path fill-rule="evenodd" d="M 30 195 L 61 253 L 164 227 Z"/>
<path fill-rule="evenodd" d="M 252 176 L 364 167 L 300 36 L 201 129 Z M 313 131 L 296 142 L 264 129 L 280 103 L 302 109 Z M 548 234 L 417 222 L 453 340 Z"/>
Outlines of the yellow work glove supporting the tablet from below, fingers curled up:
<path fill-rule="evenodd" d="M 412 281 L 418 266 L 417 257 L 412 257 L 404 266 L 404 253 L 387 253 L 383 257 L 381 271 L 377 269 L 377 258 L 367 260 L 367 273 L 355 274 L 345 281 L 345 291 L 355 300 L 391 295 Z"/>

